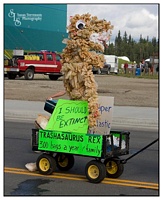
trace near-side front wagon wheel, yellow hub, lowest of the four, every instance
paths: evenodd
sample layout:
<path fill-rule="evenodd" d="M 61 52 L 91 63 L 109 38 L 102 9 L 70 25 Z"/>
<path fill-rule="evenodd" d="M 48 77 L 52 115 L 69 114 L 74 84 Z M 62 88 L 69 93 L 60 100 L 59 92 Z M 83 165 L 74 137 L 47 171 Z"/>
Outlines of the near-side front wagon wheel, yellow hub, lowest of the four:
<path fill-rule="evenodd" d="M 92 160 L 85 167 L 86 178 L 91 183 L 100 183 L 106 176 L 105 165 L 97 160 Z"/>

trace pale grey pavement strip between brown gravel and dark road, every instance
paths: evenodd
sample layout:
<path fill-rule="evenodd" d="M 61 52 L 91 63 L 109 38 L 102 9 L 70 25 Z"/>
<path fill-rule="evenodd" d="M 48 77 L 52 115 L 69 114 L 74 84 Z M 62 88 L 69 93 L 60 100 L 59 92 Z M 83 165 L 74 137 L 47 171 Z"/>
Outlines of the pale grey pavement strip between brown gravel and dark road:
<path fill-rule="evenodd" d="M 44 111 L 45 102 L 4 100 L 4 119 L 34 121 Z M 159 109 L 153 107 L 114 106 L 112 128 L 158 130 Z"/>

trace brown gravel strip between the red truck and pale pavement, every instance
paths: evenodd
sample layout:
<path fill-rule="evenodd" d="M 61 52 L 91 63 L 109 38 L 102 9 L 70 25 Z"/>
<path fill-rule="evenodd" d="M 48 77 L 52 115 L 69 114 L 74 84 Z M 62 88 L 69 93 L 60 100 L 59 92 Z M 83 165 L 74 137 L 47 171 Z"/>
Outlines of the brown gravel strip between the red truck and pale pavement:
<path fill-rule="evenodd" d="M 114 75 L 95 75 L 99 96 L 113 96 L 115 106 L 158 107 L 159 81 L 157 79 L 126 78 Z M 4 98 L 13 100 L 45 101 L 47 97 L 64 90 L 62 77 L 57 81 L 48 76 L 35 75 L 34 80 L 4 79 Z M 69 99 L 67 95 L 62 98 Z"/>

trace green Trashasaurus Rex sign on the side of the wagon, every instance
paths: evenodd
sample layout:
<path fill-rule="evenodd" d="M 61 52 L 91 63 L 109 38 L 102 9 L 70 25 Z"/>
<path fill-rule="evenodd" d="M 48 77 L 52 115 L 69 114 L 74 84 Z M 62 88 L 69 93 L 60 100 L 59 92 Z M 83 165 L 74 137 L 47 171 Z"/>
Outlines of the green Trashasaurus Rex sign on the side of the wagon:
<path fill-rule="evenodd" d="M 39 130 L 38 149 L 101 157 L 102 135 Z"/>

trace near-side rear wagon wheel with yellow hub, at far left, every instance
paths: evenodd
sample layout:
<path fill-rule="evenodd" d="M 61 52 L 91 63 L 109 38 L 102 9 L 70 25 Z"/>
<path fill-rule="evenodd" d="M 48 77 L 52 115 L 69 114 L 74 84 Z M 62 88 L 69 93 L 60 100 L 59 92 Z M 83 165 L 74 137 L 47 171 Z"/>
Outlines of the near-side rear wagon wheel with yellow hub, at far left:
<path fill-rule="evenodd" d="M 44 153 L 38 157 L 36 166 L 41 174 L 50 175 L 56 170 L 56 161 L 52 156 Z"/>

